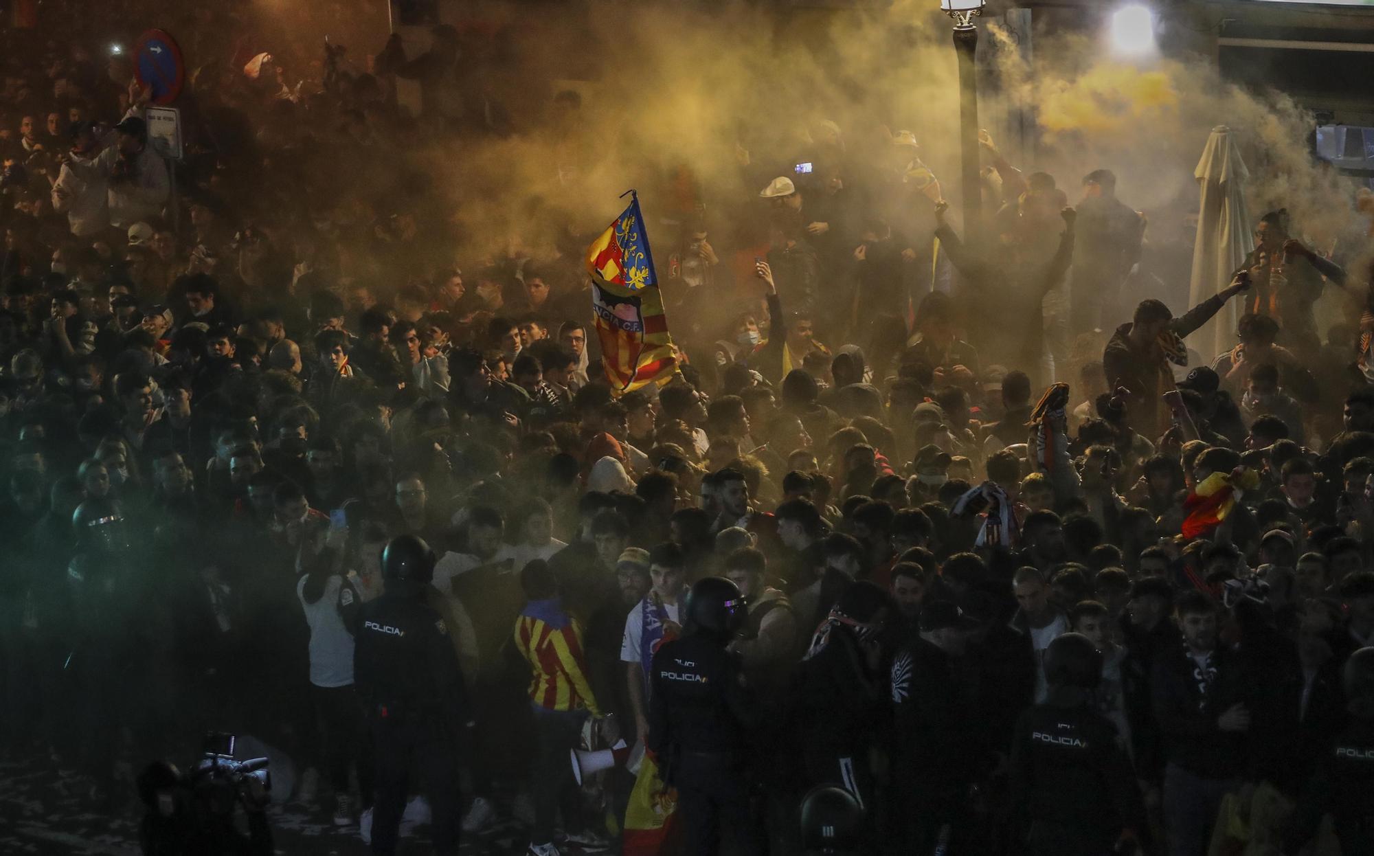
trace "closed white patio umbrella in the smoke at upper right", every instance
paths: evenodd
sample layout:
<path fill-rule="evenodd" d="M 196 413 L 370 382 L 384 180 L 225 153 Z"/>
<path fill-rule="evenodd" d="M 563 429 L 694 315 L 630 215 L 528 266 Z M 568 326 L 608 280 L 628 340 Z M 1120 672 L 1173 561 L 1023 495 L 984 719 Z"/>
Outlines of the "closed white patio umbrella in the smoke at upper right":
<path fill-rule="evenodd" d="M 1224 289 L 1254 249 L 1254 224 L 1250 223 L 1250 212 L 1245 205 L 1245 180 L 1250 173 L 1241 161 L 1230 128 L 1217 125 L 1212 129 L 1193 176 L 1198 180 L 1201 201 L 1189 308 Z M 1219 353 L 1235 346 L 1239 306 L 1241 301 L 1228 301 L 1216 317 L 1187 338 L 1189 346 L 1209 364 Z"/>

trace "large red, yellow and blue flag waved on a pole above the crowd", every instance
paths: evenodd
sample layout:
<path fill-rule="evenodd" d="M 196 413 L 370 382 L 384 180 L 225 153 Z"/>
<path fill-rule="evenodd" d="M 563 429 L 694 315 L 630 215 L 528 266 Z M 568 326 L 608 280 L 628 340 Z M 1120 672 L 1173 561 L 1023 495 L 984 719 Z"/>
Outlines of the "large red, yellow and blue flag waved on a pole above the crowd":
<path fill-rule="evenodd" d="M 587 247 L 602 367 L 617 396 L 677 374 L 639 195 L 629 194 L 629 207 Z"/>

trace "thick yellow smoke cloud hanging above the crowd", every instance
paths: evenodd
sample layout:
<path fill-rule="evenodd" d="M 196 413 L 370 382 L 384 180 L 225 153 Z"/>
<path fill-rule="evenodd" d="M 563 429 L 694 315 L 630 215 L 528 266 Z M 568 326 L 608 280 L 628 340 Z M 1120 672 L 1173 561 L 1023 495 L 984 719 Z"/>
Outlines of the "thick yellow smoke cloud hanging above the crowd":
<path fill-rule="evenodd" d="M 826 120 L 840 125 L 846 159 L 860 165 L 890 151 L 889 132 L 912 131 L 958 207 L 955 55 L 949 21 L 929 3 L 797 11 L 785 21 L 746 7 L 537 12 L 484 58 L 484 85 L 510 106 L 515 133 L 420 155 L 460 227 L 460 258 L 499 253 L 513 240 L 536 256 L 551 253 L 565 224 L 578 235 L 598 231 L 631 187 L 662 246 L 676 235 L 655 224 L 684 220 L 675 190 L 684 184 L 683 166 L 721 242 L 739 225 L 723 216 L 721 202 L 758 191 L 754 180 L 743 184 L 743 153 L 779 174 L 813 148 L 812 132 Z M 492 12 L 510 21 L 517 14 Z M 312 26 L 322 26 L 319 15 Z M 1351 256 L 1363 234 L 1352 217 L 1353 185 L 1312 164 L 1311 120 L 1290 99 L 1241 91 L 1220 80 L 1210 59 L 1123 62 L 1096 36 L 1037 32 L 1026 66 L 995 18 L 980 21 L 980 125 L 1015 166 L 1054 174 L 1070 203 L 1084 173 L 1110 168 L 1120 198 L 1149 216 L 1147 239 L 1178 240 L 1197 207 L 1193 170 L 1212 126 L 1224 124 L 1252 174 L 1252 213 L 1286 206 L 1319 249 L 1340 236 Z M 365 62 L 383 36 L 365 44 L 354 32 L 350 58 Z M 570 120 L 558 120 L 552 106 L 563 88 L 583 96 Z M 1029 104 L 1037 124 L 1033 151 L 1017 151 L 1003 133 L 1017 104 Z M 757 212 L 765 217 L 763 206 Z"/>

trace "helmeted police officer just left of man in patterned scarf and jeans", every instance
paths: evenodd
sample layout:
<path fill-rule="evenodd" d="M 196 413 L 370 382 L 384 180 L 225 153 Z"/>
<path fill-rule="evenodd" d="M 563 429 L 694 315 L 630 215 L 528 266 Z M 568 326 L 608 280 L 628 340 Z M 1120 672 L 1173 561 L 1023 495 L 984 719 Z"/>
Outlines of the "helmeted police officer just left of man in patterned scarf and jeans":
<path fill-rule="evenodd" d="M 1044 654 L 1046 703 L 1017 720 L 1010 789 L 1033 856 L 1136 853 L 1145 805 L 1116 727 L 1092 703 L 1102 654 L 1065 633 Z"/>

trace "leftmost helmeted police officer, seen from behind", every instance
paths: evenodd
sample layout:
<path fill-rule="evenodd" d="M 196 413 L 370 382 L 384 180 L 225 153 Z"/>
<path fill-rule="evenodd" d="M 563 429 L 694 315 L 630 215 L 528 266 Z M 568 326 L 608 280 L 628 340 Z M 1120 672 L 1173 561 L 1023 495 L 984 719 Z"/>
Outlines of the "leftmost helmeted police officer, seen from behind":
<path fill-rule="evenodd" d="M 433 811 L 434 852 L 458 853 L 458 749 L 469 705 L 449 628 L 425 605 L 434 551 L 403 534 L 382 551 L 385 591 L 363 606 L 353 680 L 376 756 L 372 852 L 396 852 L 409 776 Z"/>

